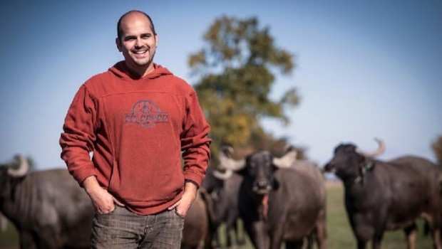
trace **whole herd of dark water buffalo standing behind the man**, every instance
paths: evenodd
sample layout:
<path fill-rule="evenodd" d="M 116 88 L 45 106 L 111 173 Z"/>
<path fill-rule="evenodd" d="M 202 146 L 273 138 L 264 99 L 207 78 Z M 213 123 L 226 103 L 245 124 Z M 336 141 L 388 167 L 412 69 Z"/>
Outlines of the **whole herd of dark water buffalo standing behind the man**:
<path fill-rule="evenodd" d="M 297 159 L 288 147 L 280 157 L 255 151 L 235 159 L 231 147 L 207 169 L 185 218 L 182 248 L 327 248 L 324 172 L 344 186 L 344 206 L 358 249 L 381 248 L 385 231 L 401 229 L 407 248 L 416 245 L 418 218 L 433 248 L 442 249 L 441 168 L 421 157 L 390 161 L 354 144 L 338 144 L 324 166 Z M 94 215 L 90 198 L 66 169 L 29 173 L 29 163 L 0 165 L 0 214 L 19 232 L 20 248 L 88 248 Z M 223 225 L 223 226 L 221 226 Z"/>

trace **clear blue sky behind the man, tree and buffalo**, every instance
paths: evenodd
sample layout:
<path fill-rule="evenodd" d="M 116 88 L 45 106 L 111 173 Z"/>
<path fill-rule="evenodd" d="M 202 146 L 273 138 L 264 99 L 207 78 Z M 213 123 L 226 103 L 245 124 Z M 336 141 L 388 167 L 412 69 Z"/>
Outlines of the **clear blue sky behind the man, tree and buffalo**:
<path fill-rule="evenodd" d="M 1 1 L 0 162 L 32 157 L 36 169 L 63 167 L 58 138 L 80 85 L 122 55 L 121 14 L 140 9 L 158 32 L 155 62 L 191 85 L 187 58 L 222 15 L 257 16 L 279 48 L 295 55 L 272 97 L 296 87 L 291 124 L 264 127 L 307 148 L 323 165 L 340 142 L 381 159 L 416 154 L 436 161 L 442 135 L 442 1 Z"/>

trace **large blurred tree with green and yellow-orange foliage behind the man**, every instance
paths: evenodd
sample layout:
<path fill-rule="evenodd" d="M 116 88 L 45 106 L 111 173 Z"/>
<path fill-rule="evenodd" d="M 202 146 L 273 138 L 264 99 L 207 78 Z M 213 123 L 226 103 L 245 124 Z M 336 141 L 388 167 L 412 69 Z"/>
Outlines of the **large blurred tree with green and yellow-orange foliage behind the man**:
<path fill-rule="evenodd" d="M 281 142 L 264 131 L 264 117 L 289 124 L 284 107 L 299 104 L 296 88 L 279 100 L 269 97 L 279 70 L 290 75 L 294 55 L 277 48 L 269 28 L 259 27 L 256 17 L 215 19 L 205 32 L 205 46 L 189 57 L 195 90 L 212 127 L 212 153 L 221 145 L 266 149 Z M 285 141 L 285 139 L 282 139 Z"/>

